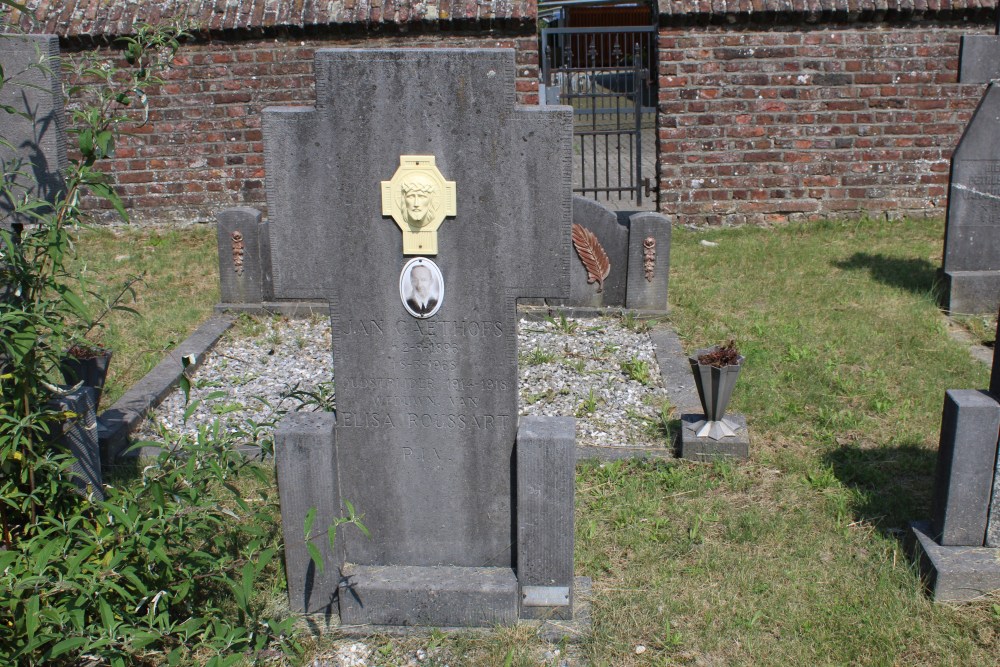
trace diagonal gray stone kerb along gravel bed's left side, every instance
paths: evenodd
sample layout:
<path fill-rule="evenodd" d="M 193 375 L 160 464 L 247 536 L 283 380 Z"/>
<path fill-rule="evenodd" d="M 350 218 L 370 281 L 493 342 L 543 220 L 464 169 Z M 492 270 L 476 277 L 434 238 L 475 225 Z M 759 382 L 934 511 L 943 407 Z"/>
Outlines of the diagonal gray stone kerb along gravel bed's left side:
<path fill-rule="evenodd" d="M 204 361 L 205 353 L 212 349 L 233 321 L 229 315 L 214 315 L 207 319 L 153 370 L 132 385 L 114 405 L 101 413 L 98 434 L 105 462 L 111 463 L 121 456 L 145 457 L 158 453 L 159 450 L 153 448 L 129 450 L 129 433 L 138 427 L 150 409 L 159 405 L 177 386 L 184 369 L 181 360 L 193 355 L 194 362 L 188 368 L 189 372 L 194 372 Z"/>

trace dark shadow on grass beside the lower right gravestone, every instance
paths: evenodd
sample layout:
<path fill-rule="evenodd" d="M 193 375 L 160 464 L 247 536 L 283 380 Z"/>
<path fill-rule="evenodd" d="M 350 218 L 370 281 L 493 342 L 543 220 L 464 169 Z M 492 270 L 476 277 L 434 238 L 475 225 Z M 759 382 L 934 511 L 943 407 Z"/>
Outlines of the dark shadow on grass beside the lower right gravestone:
<path fill-rule="evenodd" d="M 930 517 L 936 451 L 917 443 L 877 449 L 843 445 L 823 459 L 852 491 L 849 509 L 856 520 L 898 537 L 907 522 Z"/>

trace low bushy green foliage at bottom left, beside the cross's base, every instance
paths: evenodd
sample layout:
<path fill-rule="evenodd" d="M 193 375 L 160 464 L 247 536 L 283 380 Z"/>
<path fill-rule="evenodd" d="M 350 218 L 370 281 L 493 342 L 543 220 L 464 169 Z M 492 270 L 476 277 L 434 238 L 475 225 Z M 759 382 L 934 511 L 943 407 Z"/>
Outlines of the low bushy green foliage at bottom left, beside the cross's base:
<path fill-rule="evenodd" d="M 292 620 L 257 592 L 275 576 L 278 508 L 269 468 L 237 451 L 218 423 L 179 436 L 136 479 L 75 511 L 40 513 L 0 551 L 2 664 L 111 665 L 158 652 L 169 664 L 231 664 L 273 645 L 289 653 Z M 68 465 L 67 457 L 59 465 Z"/>

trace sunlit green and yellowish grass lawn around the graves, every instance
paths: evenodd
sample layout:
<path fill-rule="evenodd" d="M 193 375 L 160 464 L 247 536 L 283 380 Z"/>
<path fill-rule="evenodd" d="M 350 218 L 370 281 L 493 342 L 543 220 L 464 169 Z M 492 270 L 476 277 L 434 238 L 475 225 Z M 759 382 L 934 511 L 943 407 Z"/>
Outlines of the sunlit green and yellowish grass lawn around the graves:
<path fill-rule="evenodd" d="M 421 664 L 998 664 L 1000 596 L 931 603 L 901 543 L 929 516 L 944 391 L 989 381 L 937 307 L 943 231 L 676 229 L 673 324 L 688 349 L 733 338 L 746 355 L 732 409 L 750 423 L 751 461 L 579 466 L 576 567 L 594 579 L 582 645 L 556 657 L 526 628 L 373 637 L 372 664 L 429 646 Z M 97 231 L 80 245 L 97 275 L 149 274 L 145 318 L 105 332 L 120 393 L 211 312 L 214 231 Z M 306 664 L 336 641 L 307 642 Z"/>

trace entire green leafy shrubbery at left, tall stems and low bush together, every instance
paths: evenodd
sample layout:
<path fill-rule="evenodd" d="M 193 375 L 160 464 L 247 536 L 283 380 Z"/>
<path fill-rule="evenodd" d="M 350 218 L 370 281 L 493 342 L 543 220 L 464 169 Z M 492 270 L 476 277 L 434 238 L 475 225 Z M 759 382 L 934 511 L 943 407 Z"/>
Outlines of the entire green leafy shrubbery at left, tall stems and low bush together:
<path fill-rule="evenodd" d="M 0 197 L 13 202 L 5 222 L 18 224 L 0 228 L 0 664 L 87 656 L 118 667 L 155 653 L 171 665 L 220 666 L 265 647 L 298 649 L 291 619 L 268 613 L 259 587 L 279 576 L 279 513 L 270 469 L 237 449 L 262 438 L 260 425 L 230 432 L 216 421 L 193 437 L 140 443 L 161 453 L 139 476 L 107 486 L 105 499 L 74 491 L 73 459 L 56 445 L 61 422 L 77 417 L 51 407 L 60 358 L 139 280 L 98 297 L 102 312 L 91 314 L 89 282 L 67 268 L 85 222 L 81 201 L 96 196 L 127 219 L 98 167 L 126 123 L 145 121 L 145 91 L 183 36 L 139 26 L 121 40 L 128 67 L 78 59 L 70 78 L 82 83 L 69 89 L 76 154 L 50 200 L 24 188 L 30 169 L 4 165 Z M 0 85 L 15 83 L 0 71 Z M 186 377 L 182 385 L 187 393 Z"/>

